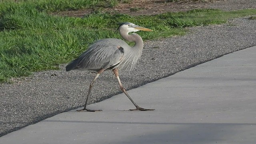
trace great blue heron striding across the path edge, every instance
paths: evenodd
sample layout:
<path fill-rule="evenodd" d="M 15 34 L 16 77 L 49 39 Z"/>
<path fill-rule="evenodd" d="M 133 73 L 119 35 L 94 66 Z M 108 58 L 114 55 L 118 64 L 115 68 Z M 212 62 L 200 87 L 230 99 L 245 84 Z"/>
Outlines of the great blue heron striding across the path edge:
<path fill-rule="evenodd" d="M 93 83 L 98 78 L 98 76 L 104 72 L 104 70 L 112 70 L 118 80 L 119 86 L 121 90 L 128 96 L 128 98 L 132 101 L 136 109 L 133 110 L 154 110 L 154 109 L 145 109 L 139 107 L 132 98 L 128 95 L 124 86 L 122 86 L 118 70 L 123 67 L 126 68 L 134 68 L 137 60 L 140 58 L 143 49 L 143 41 L 142 38 L 138 34 L 131 34 L 129 32 L 137 32 L 139 30 L 143 31 L 152 31 L 148 28 L 144 28 L 142 26 L 137 26 L 130 22 L 123 22 L 118 27 L 118 30 L 125 40 L 129 42 L 135 42 L 133 47 L 130 47 L 126 42 L 116 38 L 106 38 L 102 40 L 98 40 L 94 44 L 92 44 L 88 50 L 82 53 L 76 60 L 73 60 L 66 66 L 66 71 L 70 70 L 95 70 L 97 74 L 90 83 L 89 92 L 86 98 L 86 102 L 84 104 L 84 109 L 78 110 L 83 111 L 87 110 L 90 112 L 101 111 L 101 110 L 90 110 L 86 108 L 88 98 L 90 97 L 90 93 L 92 90 Z"/>

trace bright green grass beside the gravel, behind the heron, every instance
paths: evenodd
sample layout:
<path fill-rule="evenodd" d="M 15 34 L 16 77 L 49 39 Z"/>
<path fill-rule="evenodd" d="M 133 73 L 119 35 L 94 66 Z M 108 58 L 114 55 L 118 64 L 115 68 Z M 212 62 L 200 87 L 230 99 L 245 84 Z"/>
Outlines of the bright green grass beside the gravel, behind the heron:
<path fill-rule="evenodd" d="M 56 70 L 59 64 L 76 58 L 98 39 L 121 38 L 115 32 L 120 22 L 132 22 L 154 30 L 138 32 L 144 40 L 152 40 L 183 35 L 187 26 L 221 24 L 230 18 L 256 14 L 253 9 L 232 12 L 191 10 L 154 16 L 94 13 L 84 18 L 46 13 L 86 8 L 102 2 L 81 0 L 77 4 L 78 0 L 74 0 L 70 4 L 68 1 L 62 0 L 63 3 L 56 6 L 49 0 L 38 0 L 33 4 L 32 0 L 0 3 L 0 82 L 28 76 L 35 71 Z M 82 1 L 90 1 L 91 5 L 82 5 Z M 106 2 L 113 5 L 118 1 Z"/>

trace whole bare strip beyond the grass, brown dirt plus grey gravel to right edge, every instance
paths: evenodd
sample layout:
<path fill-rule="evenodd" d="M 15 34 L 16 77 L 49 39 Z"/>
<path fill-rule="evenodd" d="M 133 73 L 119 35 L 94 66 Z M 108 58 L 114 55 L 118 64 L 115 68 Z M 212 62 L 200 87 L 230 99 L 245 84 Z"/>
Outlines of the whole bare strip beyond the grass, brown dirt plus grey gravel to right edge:
<path fill-rule="evenodd" d="M 169 0 L 170 1 L 170 0 Z M 86 10 L 71 10 L 55 12 L 60 16 L 82 17 L 94 11 L 122 13 L 130 15 L 152 15 L 164 12 L 180 12 L 199 8 L 217 8 L 221 10 L 239 10 L 244 8 L 256 8 L 256 2 L 249 3 L 244 0 L 182 0 L 180 2 L 168 2 L 168 0 L 130 0 L 123 1 L 113 8 L 93 8 Z"/>

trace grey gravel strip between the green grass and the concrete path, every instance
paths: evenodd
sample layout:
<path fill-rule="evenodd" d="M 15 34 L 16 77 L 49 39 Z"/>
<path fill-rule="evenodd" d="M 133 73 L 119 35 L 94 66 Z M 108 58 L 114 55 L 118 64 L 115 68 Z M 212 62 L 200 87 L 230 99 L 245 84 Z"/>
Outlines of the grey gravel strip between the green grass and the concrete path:
<path fill-rule="evenodd" d="M 256 20 L 239 18 L 224 25 L 190 28 L 186 36 L 145 42 L 136 68 L 121 71 L 120 79 L 129 90 L 255 45 Z M 13 84 L 0 84 L 0 136 L 84 104 L 95 73 L 66 72 L 64 66 L 61 70 L 36 72 Z M 90 103 L 118 93 L 116 78 L 106 71 L 95 82 Z"/>

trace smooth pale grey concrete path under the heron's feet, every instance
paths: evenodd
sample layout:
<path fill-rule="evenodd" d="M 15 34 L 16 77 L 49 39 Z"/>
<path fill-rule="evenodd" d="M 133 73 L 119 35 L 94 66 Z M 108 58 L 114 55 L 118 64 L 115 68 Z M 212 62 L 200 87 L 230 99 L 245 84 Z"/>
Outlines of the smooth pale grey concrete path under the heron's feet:
<path fill-rule="evenodd" d="M 0 144 L 255 144 L 256 46 L 0 137 Z"/>

